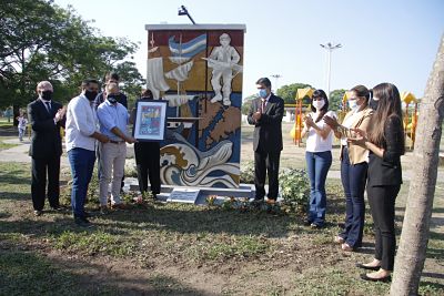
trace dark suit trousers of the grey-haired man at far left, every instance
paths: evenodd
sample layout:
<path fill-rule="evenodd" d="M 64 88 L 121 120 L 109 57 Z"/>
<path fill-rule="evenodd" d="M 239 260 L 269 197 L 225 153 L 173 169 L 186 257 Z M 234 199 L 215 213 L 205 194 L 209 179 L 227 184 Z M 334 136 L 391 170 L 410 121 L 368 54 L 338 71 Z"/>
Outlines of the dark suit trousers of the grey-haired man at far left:
<path fill-rule="evenodd" d="M 47 190 L 48 173 L 48 195 Z M 42 211 L 44 206 L 44 197 L 48 196 L 49 205 L 58 207 L 60 196 L 60 156 L 34 159 L 32 157 L 32 181 L 31 196 L 32 205 L 36 211 Z"/>

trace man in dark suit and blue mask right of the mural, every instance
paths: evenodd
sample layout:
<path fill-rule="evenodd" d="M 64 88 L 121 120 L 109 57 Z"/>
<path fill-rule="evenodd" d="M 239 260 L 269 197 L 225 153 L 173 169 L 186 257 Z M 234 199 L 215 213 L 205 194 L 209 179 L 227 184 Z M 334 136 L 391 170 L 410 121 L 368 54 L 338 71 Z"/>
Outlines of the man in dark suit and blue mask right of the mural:
<path fill-rule="evenodd" d="M 275 202 L 279 192 L 279 162 L 282 151 L 282 118 L 284 101 L 271 92 L 271 82 L 261 78 L 256 82 L 259 98 L 250 108 L 248 121 L 254 124 L 254 202 L 265 196 L 265 175 L 269 173 L 269 201 Z"/>

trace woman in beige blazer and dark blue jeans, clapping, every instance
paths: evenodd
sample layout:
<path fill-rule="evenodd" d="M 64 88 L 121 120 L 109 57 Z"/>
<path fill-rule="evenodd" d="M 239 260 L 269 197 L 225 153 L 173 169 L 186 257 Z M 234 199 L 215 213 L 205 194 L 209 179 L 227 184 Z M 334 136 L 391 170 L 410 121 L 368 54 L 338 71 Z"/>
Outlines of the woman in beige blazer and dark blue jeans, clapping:
<path fill-rule="evenodd" d="M 342 124 L 333 118 L 324 121 L 341 139 L 341 181 L 345 194 L 344 229 L 334 238 L 343 251 L 352 252 L 362 245 L 364 229 L 365 202 L 364 190 L 369 166 L 369 151 L 360 145 L 347 143 L 350 129 L 367 130 L 373 110 L 369 108 L 370 91 L 364 85 L 356 85 L 349 92 L 350 112 Z"/>

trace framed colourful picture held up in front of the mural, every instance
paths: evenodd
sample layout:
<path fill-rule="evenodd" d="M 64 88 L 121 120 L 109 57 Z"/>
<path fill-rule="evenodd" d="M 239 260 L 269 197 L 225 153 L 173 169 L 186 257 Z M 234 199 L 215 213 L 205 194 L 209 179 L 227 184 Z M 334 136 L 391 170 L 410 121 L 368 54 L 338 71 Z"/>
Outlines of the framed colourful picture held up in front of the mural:
<path fill-rule="evenodd" d="M 133 136 L 139 141 L 163 141 L 168 101 L 140 100 L 135 105 Z"/>

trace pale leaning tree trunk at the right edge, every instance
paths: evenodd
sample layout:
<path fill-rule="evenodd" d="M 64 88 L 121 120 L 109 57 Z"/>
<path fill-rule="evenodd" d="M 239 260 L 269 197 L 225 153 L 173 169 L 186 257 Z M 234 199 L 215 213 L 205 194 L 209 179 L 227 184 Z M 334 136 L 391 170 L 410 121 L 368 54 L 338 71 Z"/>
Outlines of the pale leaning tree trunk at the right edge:
<path fill-rule="evenodd" d="M 417 295 L 428 243 L 444 116 L 444 35 L 421 102 L 414 175 L 397 249 L 391 295 Z"/>

